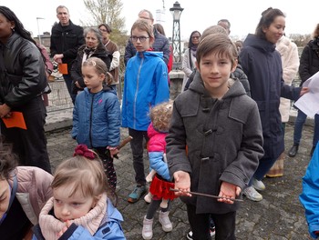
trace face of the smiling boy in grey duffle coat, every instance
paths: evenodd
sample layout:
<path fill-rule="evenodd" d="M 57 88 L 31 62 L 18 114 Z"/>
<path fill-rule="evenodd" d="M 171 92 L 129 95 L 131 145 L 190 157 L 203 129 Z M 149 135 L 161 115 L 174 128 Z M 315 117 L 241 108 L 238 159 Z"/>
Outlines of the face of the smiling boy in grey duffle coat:
<path fill-rule="evenodd" d="M 211 96 L 221 98 L 228 91 L 228 79 L 235 70 L 232 61 L 225 55 L 220 56 L 212 52 L 201 57 L 201 64 L 196 62 L 205 88 Z"/>

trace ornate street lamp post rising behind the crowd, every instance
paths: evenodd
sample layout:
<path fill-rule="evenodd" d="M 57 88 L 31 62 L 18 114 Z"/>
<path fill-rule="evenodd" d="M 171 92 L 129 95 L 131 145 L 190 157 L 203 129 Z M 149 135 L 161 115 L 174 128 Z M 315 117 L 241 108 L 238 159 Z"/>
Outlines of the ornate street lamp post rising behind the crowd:
<path fill-rule="evenodd" d="M 170 7 L 170 13 L 173 15 L 173 55 L 174 55 L 174 67 L 175 69 L 181 67 L 181 49 L 180 49 L 180 15 L 184 8 L 180 7 L 179 2 L 175 2 L 173 7 Z"/>

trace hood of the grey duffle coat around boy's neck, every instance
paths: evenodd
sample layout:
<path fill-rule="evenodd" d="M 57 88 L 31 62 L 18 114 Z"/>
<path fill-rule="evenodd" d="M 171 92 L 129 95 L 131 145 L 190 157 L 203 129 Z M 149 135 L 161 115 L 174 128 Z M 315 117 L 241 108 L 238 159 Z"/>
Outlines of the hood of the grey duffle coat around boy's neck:
<path fill-rule="evenodd" d="M 245 89 L 242 86 L 242 83 L 237 78 L 230 78 L 228 80 L 229 85 L 229 91 L 222 96 L 222 99 L 235 97 L 239 95 L 246 95 Z M 194 80 L 190 84 L 191 91 L 197 92 L 200 95 L 210 96 L 210 93 L 206 90 L 206 88 L 203 85 L 201 74 L 199 71 L 196 71 L 196 74 L 194 75 Z"/>

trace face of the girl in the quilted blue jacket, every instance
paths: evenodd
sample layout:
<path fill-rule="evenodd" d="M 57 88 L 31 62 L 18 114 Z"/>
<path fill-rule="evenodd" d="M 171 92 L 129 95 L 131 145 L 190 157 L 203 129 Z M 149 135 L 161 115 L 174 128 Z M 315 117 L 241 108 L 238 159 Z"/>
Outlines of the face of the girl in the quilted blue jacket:
<path fill-rule="evenodd" d="M 103 89 L 103 81 L 105 75 L 98 74 L 94 65 L 83 65 L 82 76 L 85 85 L 90 89 L 91 93 L 98 93 Z"/>

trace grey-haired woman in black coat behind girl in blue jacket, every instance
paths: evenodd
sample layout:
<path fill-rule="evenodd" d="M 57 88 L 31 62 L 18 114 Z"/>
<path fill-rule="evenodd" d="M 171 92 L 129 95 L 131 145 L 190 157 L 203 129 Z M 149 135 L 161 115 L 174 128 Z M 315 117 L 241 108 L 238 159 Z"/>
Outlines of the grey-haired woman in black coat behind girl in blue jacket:
<path fill-rule="evenodd" d="M 78 91 L 82 91 L 86 85 L 82 77 L 82 63 L 87 58 L 95 56 L 103 60 L 108 66 L 111 65 L 110 55 L 102 43 L 102 34 L 96 27 L 89 27 L 84 30 L 85 45 L 81 45 L 77 51 L 77 58 L 71 68 L 71 76 L 73 79 L 73 94 L 77 95 Z M 75 101 L 75 99 L 73 99 Z"/>

